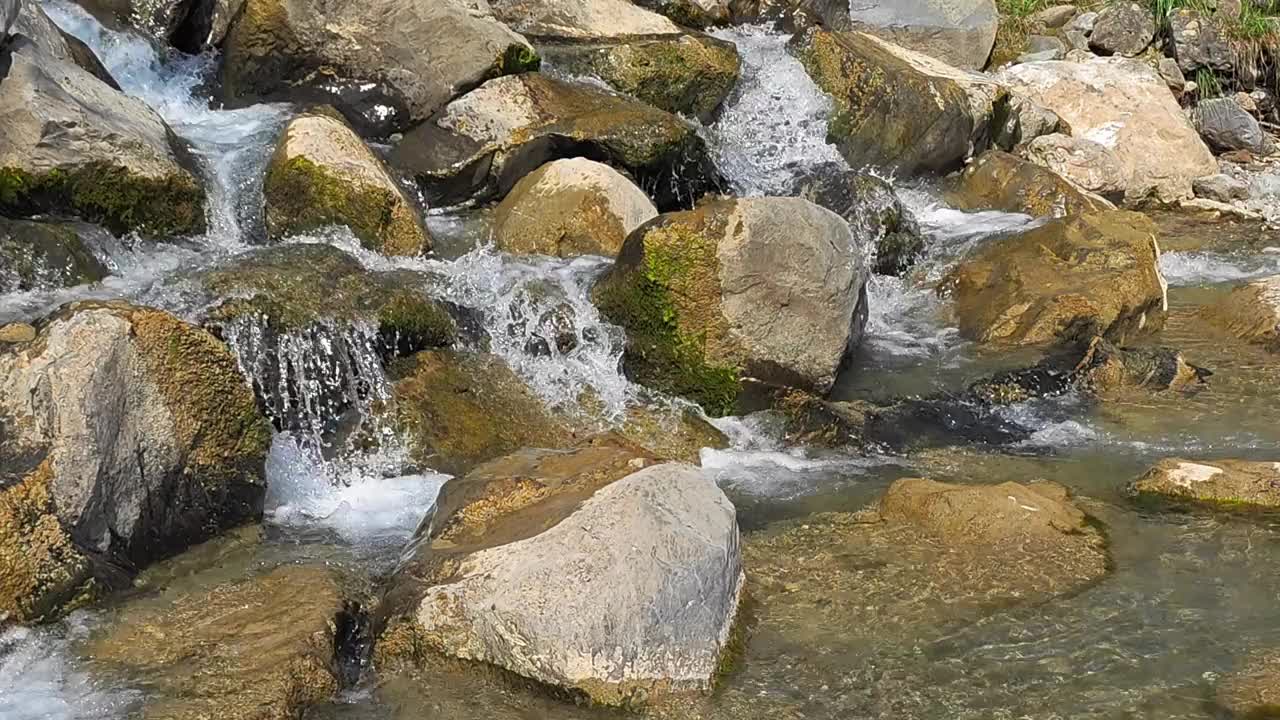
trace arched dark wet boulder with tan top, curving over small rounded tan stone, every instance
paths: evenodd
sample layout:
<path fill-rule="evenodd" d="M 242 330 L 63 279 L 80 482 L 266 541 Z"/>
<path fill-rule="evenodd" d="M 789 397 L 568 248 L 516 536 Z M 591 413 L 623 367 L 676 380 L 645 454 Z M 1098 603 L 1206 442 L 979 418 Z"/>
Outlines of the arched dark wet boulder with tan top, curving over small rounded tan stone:
<path fill-rule="evenodd" d="M 454 100 L 406 133 L 390 160 L 429 200 L 451 205 L 506 196 L 548 160 L 575 156 L 626 170 L 659 209 L 726 187 L 689 122 L 538 73 L 495 78 Z"/>

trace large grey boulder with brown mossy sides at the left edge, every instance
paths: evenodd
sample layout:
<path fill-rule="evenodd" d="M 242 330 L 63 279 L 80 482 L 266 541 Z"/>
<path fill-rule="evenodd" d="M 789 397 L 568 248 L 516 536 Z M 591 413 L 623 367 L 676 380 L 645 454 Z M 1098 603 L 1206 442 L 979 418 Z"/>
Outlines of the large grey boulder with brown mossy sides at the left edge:
<path fill-rule="evenodd" d="M 0 615 L 51 616 L 261 516 L 253 392 L 227 346 L 160 310 L 41 320 L 0 352 Z"/>

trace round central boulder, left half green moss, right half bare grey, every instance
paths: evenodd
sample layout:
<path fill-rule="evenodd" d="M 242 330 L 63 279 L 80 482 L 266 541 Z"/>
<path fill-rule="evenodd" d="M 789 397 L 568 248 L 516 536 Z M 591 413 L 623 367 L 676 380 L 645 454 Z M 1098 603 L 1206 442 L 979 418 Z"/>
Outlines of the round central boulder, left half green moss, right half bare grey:
<path fill-rule="evenodd" d="M 748 378 L 832 387 L 867 322 L 865 251 L 799 197 L 705 202 L 632 232 L 593 300 L 628 333 L 628 377 L 726 415 Z"/>

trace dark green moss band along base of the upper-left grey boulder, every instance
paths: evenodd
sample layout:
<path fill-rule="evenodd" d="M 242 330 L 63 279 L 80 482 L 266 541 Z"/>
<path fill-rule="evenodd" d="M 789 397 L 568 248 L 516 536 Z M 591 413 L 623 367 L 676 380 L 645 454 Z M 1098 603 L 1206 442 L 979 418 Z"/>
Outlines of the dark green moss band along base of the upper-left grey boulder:
<path fill-rule="evenodd" d="M 116 234 L 195 234 L 205 229 L 205 192 L 187 174 L 145 178 L 108 163 L 40 174 L 0 168 L 0 214 L 40 213 L 79 215 Z"/>

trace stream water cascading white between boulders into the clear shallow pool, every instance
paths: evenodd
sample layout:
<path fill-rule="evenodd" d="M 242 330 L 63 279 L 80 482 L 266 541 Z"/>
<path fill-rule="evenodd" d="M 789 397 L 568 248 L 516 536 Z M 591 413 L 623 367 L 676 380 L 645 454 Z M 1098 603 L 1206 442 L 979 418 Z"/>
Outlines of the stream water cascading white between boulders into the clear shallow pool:
<path fill-rule="evenodd" d="M 292 109 L 210 109 L 204 82 L 214 58 L 157 54 L 146 41 L 106 31 L 77 6 L 47 3 L 54 19 L 90 44 L 127 92 L 156 109 L 200 160 L 209 187 L 209 232 L 178 242 L 99 238 L 111 270 L 102 283 L 0 296 L 0 323 L 29 319 L 69 300 L 129 297 L 200 320 L 211 302 L 191 281 L 225 266 L 264 241 L 261 176 L 274 136 Z M 737 45 L 744 70 L 719 118 L 704 128 L 721 169 L 744 195 L 783 192 L 808 168 L 842 163 L 826 143 L 829 101 L 786 53 L 785 35 L 740 27 L 716 35 Z M 1280 200 L 1258 179 L 1256 202 Z M 1270 190 L 1268 190 L 1270 188 Z M 904 278 L 874 277 L 864 346 L 836 389 L 838 398 L 882 400 L 954 392 L 1034 355 L 988 354 L 960 338 L 934 286 L 965 254 L 1037 220 L 1009 213 L 960 213 L 929 187 L 901 187 L 928 238 L 928 256 Z M 1272 195 L 1266 195 L 1271 192 Z M 1001 451 L 937 450 L 918 455 L 847 456 L 787 446 L 777 418 L 717 420 L 727 450 L 704 450 L 703 466 L 731 495 L 744 530 L 810 512 L 855 510 L 893 479 L 1052 479 L 1073 488 L 1107 528 L 1114 569 L 1097 585 L 1032 607 L 964 623 L 938 618 L 911 633 L 822 626 L 820 639 L 755 624 L 746 655 L 724 687 L 690 717 L 1187 717 L 1208 719 L 1213 682 L 1256 650 L 1280 647 L 1280 524 L 1266 518 L 1138 511 L 1123 484 L 1169 455 L 1280 455 L 1280 364 L 1257 348 L 1203 327 L 1196 310 L 1230 283 L 1280 272 L 1275 231 L 1161 220 L 1161 266 L 1171 314 L 1156 342 L 1211 368 L 1190 396 L 1094 404 L 1065 396 L 1005 413 L 1033 434 Z M 603 259 L 513 259 L 494 251 L 483 213 L 436 213 L 433 259 L 387 259 L 334 229 L 291 238 L 329 243 L 370 272 L 398 272 L 410 286 L 470 309 L 498 354 L 549 404 L 573 411 L 598 398 L 602 427 L 645 395 L 620 373 L 623 337 L 604 323 L 588 288 Z M 567 318 L 556 328 L 549 311 Z M 567 332 L 572 343 L 558 343 Z M 396 560 L 445 475 L 413 466 L 371 406 L 384 400 L 374 334 L 360 323 L 311 327 L 266 350 L 253 322 L 225 332 L 242 370 L 270 398 L 280 432 L 269 461 L 268 532 L 253 562 L 323 559 L 366 578 Z M 271 378 L 276 378 L 273 380 Z M 279 378 L 291 378 L 280 382 Z M 1268 395 L 1270 393 L 1270 395 Z M 339 410 L 339 407 L 342 410 Z M 332 439 L 335 413 L 371 423 L 372 448 Z M 804 562 L 805 559 L 795 559 Z M 370 579 L 372 579 L 370 578 Z M 813 623 L 817 623 L 814 615 Z M 125 717 L 146 700 L 146 678 L 97 674 L 78 641 L 95 615 L 0 634 L 0 717 L 90 720 Z M 803 629 L 803 628 L 801 628 Z M 612 714 L 566 705 L 527 688 L 445 669 L 420 678 L 366 678 L 311 719 L 417 717 L 561 720 Z"/>

